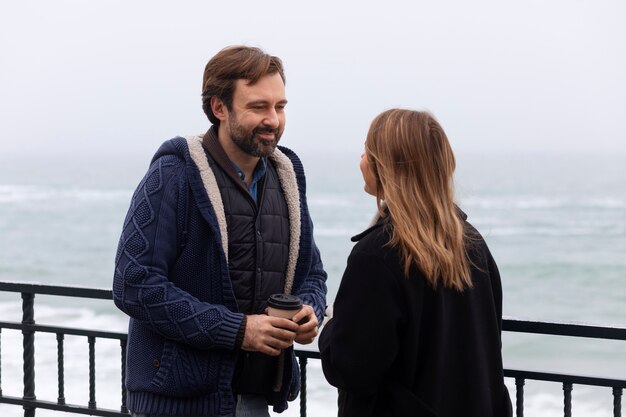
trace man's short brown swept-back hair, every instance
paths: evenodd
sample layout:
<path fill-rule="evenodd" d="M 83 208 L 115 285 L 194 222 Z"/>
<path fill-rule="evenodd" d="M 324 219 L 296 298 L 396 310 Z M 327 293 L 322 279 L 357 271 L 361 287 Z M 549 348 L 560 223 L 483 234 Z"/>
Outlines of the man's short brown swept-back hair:
<path fill-rule="evenodd" d="M 280 74 L 285 82 L 283 63 L 280 58 L 266 54 L 260 48 L 250 46 L 228 46 L 219 51 L 204 68 L 202 80 L 202 109 L 211 123 L 219 126 L 219 119 L 211 110 L 211 97 L 222 100 L 232 110 L 235 82 L 246 80 L 255 84 L 265 75 Z"/>

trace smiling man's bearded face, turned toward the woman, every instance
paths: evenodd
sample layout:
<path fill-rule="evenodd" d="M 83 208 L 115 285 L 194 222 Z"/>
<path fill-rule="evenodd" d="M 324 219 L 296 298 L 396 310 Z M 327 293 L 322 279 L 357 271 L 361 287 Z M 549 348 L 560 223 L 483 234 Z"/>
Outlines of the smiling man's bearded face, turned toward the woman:
<path fill-rule="evenodd" d="M 231 140 L 246 154 L 268 156 L 285 129 L 285 84 L 279 74 L 266 75 L 254 85 L 237 80 L 226 126 Z"/>

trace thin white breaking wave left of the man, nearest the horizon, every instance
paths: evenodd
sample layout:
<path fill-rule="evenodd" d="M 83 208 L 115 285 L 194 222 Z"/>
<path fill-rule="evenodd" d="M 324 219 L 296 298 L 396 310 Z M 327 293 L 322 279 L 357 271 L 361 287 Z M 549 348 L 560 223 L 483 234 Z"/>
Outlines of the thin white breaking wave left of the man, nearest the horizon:
<path fill-rule="evenodd" d="M 0 185 L 0 203 L 21 204 L 45 201 L 128 201 L 130 190 L 42 187 L 30 185 Z"/>

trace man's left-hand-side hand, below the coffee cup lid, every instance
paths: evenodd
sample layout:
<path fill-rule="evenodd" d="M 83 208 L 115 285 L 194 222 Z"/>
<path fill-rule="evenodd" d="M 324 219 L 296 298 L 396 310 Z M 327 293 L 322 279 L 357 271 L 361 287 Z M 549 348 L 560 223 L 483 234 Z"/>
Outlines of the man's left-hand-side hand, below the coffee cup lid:
<path fill-rule="evenodd" d="M 241 348 L 278 356 L 281 350 L 293 345 L 297 331 L 298 325 L 291 320 L 252 314 L 246 317 L 246 330 Z"/>

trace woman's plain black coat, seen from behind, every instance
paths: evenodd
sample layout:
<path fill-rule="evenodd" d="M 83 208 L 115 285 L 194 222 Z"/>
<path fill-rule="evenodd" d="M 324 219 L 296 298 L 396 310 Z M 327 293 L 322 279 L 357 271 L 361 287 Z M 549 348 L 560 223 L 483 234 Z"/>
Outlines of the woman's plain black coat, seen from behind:
<path fill-rule="evenodd" d="M 379 221 L 354 246 L 320 335 L 326 379 L 339 388 L 339 416 L 510 416 L 501 339 L 498 268 L 477 231 L 469 245 L 473 287 L 434 289 Z"/>

